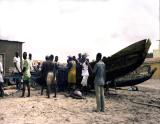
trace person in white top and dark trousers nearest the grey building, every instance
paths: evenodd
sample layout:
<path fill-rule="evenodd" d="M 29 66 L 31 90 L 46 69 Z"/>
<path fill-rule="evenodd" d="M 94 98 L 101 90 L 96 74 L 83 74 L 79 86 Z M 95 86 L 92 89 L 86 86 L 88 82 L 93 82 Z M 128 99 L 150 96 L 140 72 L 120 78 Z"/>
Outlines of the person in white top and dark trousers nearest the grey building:
<path fill-rule="evenodd" d="M 19 54 L 18 52 L 15 53 L 15 56 L 13 58 L 13 63 L 14 63 L 14 66 L 15 66 L 15 69 L 14 69 L 14 74 L 16 76 L 15 78 L 15 82 L 16 82 L 16 89 L 20 90 L 21 89 L 21 60 L 20 60 L 20 57 L 19 57 Z"/>

